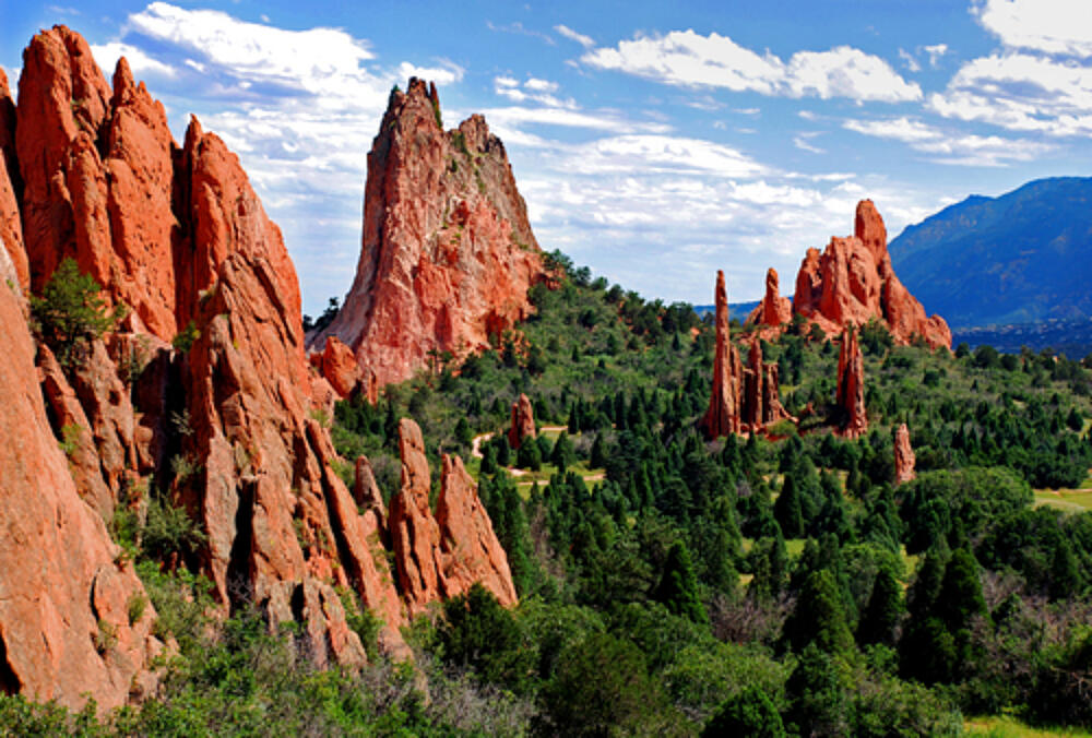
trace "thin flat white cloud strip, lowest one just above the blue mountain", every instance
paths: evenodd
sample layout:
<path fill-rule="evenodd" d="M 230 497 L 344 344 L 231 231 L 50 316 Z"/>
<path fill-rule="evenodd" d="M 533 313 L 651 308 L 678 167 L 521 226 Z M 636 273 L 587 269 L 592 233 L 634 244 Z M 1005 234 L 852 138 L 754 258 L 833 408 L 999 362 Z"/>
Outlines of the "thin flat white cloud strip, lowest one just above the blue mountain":
<path fill-rule="evenodd" d="M 1053 148 L 1049 144 L 997 135 L 968 135 L 948 132 L 906 117 L 886 120 L 847 120 L 843 128 L 865 135 L 901 141 L 914 151 L 933 154 L 938 164 L 961 166 L 1005 166 L 1007 162 L 1030 162 Z"/>

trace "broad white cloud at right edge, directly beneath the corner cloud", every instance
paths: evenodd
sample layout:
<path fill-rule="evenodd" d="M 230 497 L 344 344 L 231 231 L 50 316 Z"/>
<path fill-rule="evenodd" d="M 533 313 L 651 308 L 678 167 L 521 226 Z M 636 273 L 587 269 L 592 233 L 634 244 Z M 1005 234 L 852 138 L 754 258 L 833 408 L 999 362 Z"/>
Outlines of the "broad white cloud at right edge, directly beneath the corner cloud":
<path fill-rule="evenodd" d="M 1092 133 L 1092 68 L 1026 53 L 965 63 L 928 107 L 960 120 L 1049 135 Z"/>

